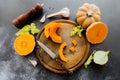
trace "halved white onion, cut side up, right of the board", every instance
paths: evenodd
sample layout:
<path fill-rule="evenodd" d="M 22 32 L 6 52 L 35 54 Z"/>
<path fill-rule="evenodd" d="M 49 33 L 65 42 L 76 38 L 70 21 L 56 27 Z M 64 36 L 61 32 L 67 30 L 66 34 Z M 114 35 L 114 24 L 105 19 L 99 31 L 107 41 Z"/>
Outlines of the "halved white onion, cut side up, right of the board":
<path fill-rule="evenodd" d="M 96 51 L 93 55 L 93 61 L 96 64 L 99 65 L 104 65 L 108 62 L 108 54 L 110 53 L 110 51 Z"/>

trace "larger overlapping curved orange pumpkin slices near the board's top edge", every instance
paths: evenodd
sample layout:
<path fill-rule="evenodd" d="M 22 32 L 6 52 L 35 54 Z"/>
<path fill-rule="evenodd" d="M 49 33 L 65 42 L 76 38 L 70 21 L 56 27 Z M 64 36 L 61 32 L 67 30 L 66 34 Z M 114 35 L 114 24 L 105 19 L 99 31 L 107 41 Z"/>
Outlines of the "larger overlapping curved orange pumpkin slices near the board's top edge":
<path fill-rule="evenodd" d="M 56 23 L 56 22 L 48 23 L 45 26 L 45 31 L 44 31 L 46 38 L 48 38 L 50 36 L 50 38 L 52 39 L 53 42 L 61 43 L 62 37 L 57 34 L 57 30 L 61 27 L 62 26 L 60 23 Z"/>

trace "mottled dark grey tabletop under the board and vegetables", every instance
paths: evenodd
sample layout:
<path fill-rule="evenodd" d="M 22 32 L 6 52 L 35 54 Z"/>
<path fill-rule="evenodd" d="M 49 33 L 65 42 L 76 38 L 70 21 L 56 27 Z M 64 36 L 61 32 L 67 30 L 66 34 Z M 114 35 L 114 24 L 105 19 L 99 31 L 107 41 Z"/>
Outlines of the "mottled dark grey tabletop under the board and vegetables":
<path fill-rule="evenodd" d="M 92 63 L 88 69 L 83 66 L 74 74 L 55 74 L 41 65 L 33 67 L 29 59 L 36 59 L 34 53 L 21 57 L 13 49 L 13 40 L 18 31 L 11 23 L 12 19 L 30 9 L 35 3 L 44 3 L 44 12 L 52 13 L 63 7 L 71 10 L 70 20 L 75 21 L 77 8 L 83 3 L 94 3 L 102 12 L 102 21 L 108 25 L 107 39 L 93 49 L 111 50 L 105 66 Z M 0 80 L 120 80 L 120 5 L 119 0 L 0 0 Z M 39 17 L 40 18 L 40 17 Z M 46 23 L 50 20 L 47 19 Z M 40 29 L 44 24 L 34 21 Z"/>

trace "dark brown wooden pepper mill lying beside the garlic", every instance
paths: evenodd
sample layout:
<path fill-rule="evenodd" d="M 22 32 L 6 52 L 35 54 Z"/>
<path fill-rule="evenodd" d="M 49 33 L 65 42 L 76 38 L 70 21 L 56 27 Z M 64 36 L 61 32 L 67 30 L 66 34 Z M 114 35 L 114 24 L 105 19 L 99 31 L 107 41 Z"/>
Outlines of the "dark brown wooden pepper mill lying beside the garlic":
<path fill-rule="evenodd" d="M 13 19 L 12 23 L 17 28 L 22 28 L 25 24 L 31 22 L 34 18 L 42 14 L 43 7 L 36 3 L 30 10 Z"/>

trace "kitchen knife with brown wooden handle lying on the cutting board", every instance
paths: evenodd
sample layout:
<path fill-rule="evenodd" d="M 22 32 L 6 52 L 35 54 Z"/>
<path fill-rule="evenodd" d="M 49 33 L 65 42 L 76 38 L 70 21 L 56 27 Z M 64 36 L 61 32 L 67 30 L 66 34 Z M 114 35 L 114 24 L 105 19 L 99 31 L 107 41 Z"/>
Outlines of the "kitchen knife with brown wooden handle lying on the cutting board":
<path fill-rule="evenodd" d="M 46 47 L 42 42 L 37 40 L 38 45 L 56 62 L 58 62 L 63 69 L 65 69 L 68 73 L 73 73 L 57 56 L 53 53 L 48 47 Z"/>

